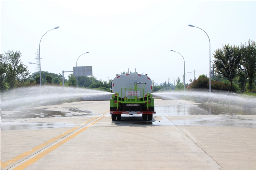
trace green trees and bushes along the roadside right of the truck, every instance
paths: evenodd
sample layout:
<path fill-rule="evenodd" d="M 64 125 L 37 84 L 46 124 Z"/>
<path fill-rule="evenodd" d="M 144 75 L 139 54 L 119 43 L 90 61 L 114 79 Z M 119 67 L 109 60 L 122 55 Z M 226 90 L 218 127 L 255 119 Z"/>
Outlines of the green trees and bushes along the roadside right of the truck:
<path fill-rule="evenodd" d="M 213 54 L 214 72 L 211 76 L 211 89 L 218 91 L 237 92 L 256 96 L 256 45 L 255 41 L 240 46 L 223 45 Z M 209 89 L 209 77 L 199 75 L 195 80 L 189 80 L 186 90 Z M 176 85 L 170 87 L 167 82 L 153 86 L 153 91 L 183 90 L 184 85 L 178 78 Z"/>

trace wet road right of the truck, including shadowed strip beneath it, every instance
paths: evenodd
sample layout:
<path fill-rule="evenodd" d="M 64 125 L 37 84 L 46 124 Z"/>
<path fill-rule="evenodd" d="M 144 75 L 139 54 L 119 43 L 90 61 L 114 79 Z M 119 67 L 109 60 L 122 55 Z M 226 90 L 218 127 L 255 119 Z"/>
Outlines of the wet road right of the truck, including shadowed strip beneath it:
<path fill-rule="evenodd" d="M 143 121 L 141 115 L 122 115 L 117 126 L 182 126 L 209 125 L 255 128 L 255 111 L 242 107 L 209 106 L 205 104 L 156 105 L 152 121 Z"/>

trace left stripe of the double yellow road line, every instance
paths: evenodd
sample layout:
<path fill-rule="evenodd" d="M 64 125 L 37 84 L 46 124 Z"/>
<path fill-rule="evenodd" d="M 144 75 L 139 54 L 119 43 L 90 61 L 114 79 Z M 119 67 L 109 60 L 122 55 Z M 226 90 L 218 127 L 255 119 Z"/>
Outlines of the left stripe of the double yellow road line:
<path fill-rule="evenodd" d="M 108 113 L 108 112 L 105 112 L 105 113 Z M 105 113 L 103 113 L 103 114 L 105 114 Z M 99 116 L 96 116 L 96 117 L 94 117 L 94 118 L 92 118 L 92 119 L 90 119 L 90 120 L 88 120 L 88 121 L 82 123 L 80 126 L 75 126 L 74 128 L 70 129 L 69 131 L 62 133 L 62 134 L 58 135 L 57 137 L 54 137 L 54 138 L 52 138 L 52 139 L 50 139 L 50 140 L 48 140 L 48 141 L 42 143 L 41 145 L 38 145 L 37 147 L 34 147 L 34 148 L 31 149 L 30 151 L 24 152 L 24 153 L 22 153 L 22 154 L 20 154 L 20 155 L 18 155 L 18 156 L 16 156 L 16 157 L 14 157 L 14 158 L 12 158 L 12 159 L 6 161 L 6 162 L 4 162 L 4 163 L 1 162 L 2 168 L 5 168 L 6 166 L 11 165 L 12 163 L 15 163 L 16 161 L 18 161 L 18 160 L 24 158 L 25 156 L 27 156 L 27 155 L 29 155 L 29 154 L 31 154 L 31 153 L 33 153 L 33 152 L 35 152 L 35 151 L 37 151 L 37 150 L 43 148 L 44 146 L 48 145 L 49 143 L 54 142 L 55 140 L 58 140 L 59 138 L 65 136 L 65 135 L 67 135 L 67 134 L 69 134 L 70 132 L 73 132 L 73 131 L 77 130 L 77 129 L 80 128 L 81 126 L 83 126 L 83 125 L 85 125 L 85 124 L 87 124 L 87 123 L 93 121 L 94 119 L 97 119 L 98 117 L 99 117 Z"/>

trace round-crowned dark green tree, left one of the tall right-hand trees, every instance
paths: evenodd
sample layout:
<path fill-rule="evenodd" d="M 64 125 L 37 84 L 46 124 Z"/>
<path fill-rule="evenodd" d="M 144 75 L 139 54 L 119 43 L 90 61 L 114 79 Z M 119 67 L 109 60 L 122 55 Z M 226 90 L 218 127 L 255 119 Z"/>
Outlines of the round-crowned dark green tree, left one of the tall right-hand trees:
<path fill-rule="evenodd" d="M 232 90 L 233 79 L 236 77 L 238 69 L 241 66 L 239 47 L 225 44 L 222 49 L 215 51 L 214 58 L 216 58 L 214 61 L 216 72 L 230 82 L 230 88 Z"/>

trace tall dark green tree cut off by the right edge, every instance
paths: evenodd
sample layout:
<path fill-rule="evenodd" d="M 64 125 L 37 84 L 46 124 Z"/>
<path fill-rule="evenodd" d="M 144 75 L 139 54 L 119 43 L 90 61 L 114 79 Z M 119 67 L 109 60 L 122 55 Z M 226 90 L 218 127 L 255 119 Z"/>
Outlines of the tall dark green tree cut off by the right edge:
<path fill-rule="evenodd" d="M 256 76 L 256 45 L 255 45 L 255 41 L 248 41 L 248 45 L 241 43 L 240 46 L 240 51 L 242 54 L 242 60 L 241 60 L 241 65 L 242 65 L 242 70 L 245 74 L 244 76 L 244 85 L 243 85 L 243 89 L 245 87 L 246 84 L 246 80 L 248 78 L 248 83 L 249 85 L 247 87 L 249 87 L 249 91 L 252 92 L 252 85 L 253 85 L 253 79 Z M 241 90 L 243 92 L 243 90 Z"/>

